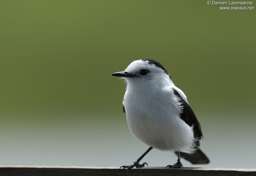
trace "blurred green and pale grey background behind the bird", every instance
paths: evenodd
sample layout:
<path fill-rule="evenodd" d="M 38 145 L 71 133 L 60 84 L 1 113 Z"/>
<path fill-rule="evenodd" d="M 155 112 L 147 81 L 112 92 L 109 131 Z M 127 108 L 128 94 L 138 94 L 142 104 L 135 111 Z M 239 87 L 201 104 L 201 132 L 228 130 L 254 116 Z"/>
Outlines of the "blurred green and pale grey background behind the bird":
<path fill-rule="evenodd" d="M 202 126 L 211 163 L 183 165 L 255 168 L 255 17 L 202 0 L 2 1 L 0 164 L 132 164 L 148 146 L 111 74 L 152 58 Z M 153 150 L 142 162 L 176 160 Z"/>

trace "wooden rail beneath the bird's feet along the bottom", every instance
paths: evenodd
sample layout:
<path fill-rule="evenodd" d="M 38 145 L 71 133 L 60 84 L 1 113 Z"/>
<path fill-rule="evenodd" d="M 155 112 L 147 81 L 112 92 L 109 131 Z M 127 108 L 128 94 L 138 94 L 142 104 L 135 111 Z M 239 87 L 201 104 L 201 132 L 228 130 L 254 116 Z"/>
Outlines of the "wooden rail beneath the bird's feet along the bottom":
<path fill-rule="evenodd" d="M 0 165 L 0 176 L 84 176 L 84 175 L 179 175 L 179 176 L 239 176 L 255 175 L 256 169 L 199 168 L 185 167 L 170 169 L 164 167 L 145 167 L 140 169 L 119 169 L 116 166 L 57 166 L 57 165 Z"/>

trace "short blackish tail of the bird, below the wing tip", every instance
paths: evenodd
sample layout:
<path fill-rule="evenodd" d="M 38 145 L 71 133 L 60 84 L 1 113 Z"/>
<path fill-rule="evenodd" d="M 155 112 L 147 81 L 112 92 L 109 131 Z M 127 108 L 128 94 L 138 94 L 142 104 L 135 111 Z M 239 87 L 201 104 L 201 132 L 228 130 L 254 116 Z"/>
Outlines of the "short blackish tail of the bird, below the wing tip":
<path fill-rule="evenodd" d="M 176 155 L 178 155 L 178 152 L 175 152 Z M 180 157 L 188 160 L 193 165 L 196 164 L 208 164 L 210 163 L 209 158 L 204 154 L 204 152 L 201 149 L 196 149 L 195 153 L 188 154 L 180 152 Z"/>

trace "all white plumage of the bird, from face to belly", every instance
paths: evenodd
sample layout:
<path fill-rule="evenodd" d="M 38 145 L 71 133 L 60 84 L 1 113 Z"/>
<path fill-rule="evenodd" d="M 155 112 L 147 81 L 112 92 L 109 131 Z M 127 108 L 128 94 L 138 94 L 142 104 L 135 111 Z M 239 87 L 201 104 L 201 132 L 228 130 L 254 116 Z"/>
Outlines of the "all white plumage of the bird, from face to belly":
<path fill-rule="evenodd" d="M 150 72 L 142 76 L 139 75 L 141 69 Z M 125 71 L 139 76 L 124 77 L 127 87 L 123 104 L 131 133 L 159 150 L 193 153 L 193 127 L 180 118 L 183 106 L 173 89 L 185 101 L 186 95 L 173 84 L 169 75 L 148 61 L 134 61 Z"/>

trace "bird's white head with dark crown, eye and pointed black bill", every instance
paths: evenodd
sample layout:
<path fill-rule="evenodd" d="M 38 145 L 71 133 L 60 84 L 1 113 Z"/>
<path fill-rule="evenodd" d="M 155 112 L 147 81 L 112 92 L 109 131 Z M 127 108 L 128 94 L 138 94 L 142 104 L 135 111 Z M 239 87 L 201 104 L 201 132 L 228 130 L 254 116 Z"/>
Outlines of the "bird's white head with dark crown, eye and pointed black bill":
<path fill-rule="evenodd" d="M 123 72 L 113 73 L 129 84 L 136 86 L 150 86 L 173 84 L 172 79 L 162 64 L 153 59 L 141 59 L 133 61 Z"/>

